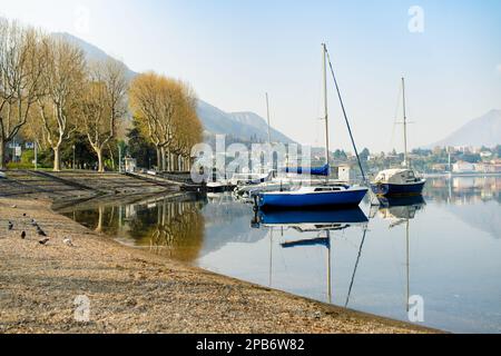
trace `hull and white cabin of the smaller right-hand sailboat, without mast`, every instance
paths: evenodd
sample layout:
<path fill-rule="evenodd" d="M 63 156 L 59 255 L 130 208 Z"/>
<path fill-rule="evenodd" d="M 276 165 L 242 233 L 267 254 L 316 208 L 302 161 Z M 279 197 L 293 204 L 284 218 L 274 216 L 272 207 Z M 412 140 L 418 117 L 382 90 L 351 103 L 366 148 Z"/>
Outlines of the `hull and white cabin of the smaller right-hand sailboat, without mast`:
<path fill-rule="evenodd" d="M 420 196 L 426 180 L 416 177 L 412 169 L 389 169 L 381 171 L 371 184 L 377 196 Z"/>

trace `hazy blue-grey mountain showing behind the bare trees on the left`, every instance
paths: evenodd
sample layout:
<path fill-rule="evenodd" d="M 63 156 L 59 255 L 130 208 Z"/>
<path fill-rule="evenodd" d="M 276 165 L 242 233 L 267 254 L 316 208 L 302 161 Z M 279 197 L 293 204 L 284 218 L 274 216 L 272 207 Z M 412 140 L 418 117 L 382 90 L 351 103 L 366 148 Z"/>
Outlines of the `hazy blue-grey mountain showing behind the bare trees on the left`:
<path fill-rule="evenodd" d="M 56 38 L 65 39 L 75 46 L 81 48 L 86 55 L 87 60 L 106 60 L 110 58 L 100 48 L 84 41 L 82 39 L 69 33 L 52 33 Z M 132 79 L 138 73 L 127 68 L 127 76 Z M 200 118 L 206 136 L 228 135 L 233 139 L 242 139 L 243 141 L 250 141 L 257 139 L 261 141 L 268 140 L 268 126 L 266 120 L 254 112 L 225 112 L 208 102 L 198 100 L 198 117 Z M 276 142 L 292 144 L 291 138 L 282 132 L 272 129 L 272 140 Z"/>

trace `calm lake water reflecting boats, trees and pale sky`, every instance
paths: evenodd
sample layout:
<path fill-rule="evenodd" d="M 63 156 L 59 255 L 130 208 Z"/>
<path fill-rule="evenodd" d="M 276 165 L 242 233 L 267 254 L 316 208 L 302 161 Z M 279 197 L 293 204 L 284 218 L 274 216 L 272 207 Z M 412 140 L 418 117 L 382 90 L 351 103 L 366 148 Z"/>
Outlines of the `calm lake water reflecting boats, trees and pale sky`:
<path fill-rule="evenodd" d="M 230 195 L 61 212 L 118 240 L 243 280 L 422 325 L 501 333 L 501 177 L 429 180 L 424 199 L 255 216 Z"/>

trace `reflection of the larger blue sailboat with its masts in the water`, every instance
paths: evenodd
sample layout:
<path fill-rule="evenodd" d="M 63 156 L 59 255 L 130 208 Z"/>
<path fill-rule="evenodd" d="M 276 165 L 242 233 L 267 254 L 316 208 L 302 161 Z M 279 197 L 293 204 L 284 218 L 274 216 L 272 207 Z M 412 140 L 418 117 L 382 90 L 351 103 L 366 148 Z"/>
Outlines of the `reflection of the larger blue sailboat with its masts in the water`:
<path fill-rule="evenodd" d="M 284 238 L 287 230 L 293 229 L 297 233 L 308 233 L 310 236 L 316 234 L 316 237 L 307 239 L 285 240 L 281 244 L 282 248 L 307 248 L 312 246 L 324 246 L 327 250 L 327 299 L 332 304 L 332 239 L 334 234 L 345 230 L 350 227 L 360 226 L 363 230 L 362 244 L 360 247 L 358 258 L 365 241 L 369 219 L 360 208 L 346 210 L 273 210 L 257 211 L 252 221 L 255 228 L 264 227 L 269 229 L 269 286 L 272 286 L 273 277 L 273 235 L 279 230 Z M 356 267 L 350 286 L 346 305 L 350 300 L 353 281 L 356 274 Z"/>

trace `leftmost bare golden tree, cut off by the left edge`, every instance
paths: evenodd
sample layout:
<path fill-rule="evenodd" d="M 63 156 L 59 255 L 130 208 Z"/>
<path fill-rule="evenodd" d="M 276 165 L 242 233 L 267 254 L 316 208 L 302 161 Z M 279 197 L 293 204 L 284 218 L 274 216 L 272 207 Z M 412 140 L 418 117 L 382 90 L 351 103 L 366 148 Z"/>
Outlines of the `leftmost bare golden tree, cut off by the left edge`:
<path fill-rule="evenodd" d="M 40 93 L 46 63 L 40 36 L 17 22 L 0 19 L 0 169 L 6 168 L 6 147 L 27 123 Z"/>

